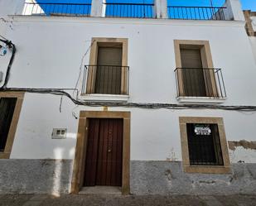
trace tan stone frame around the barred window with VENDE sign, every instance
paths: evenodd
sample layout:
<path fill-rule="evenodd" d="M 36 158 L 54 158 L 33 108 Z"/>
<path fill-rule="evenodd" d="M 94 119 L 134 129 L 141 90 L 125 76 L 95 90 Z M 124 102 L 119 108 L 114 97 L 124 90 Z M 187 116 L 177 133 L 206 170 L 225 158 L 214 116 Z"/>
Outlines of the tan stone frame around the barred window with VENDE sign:
<path fill-rule="evenodd" d="M 183 170 L 187 173 L 212 173 L 225 174 L 230 173 L 230 160 L 228 143 L 225 137 L 225 127 L 222 117 L 180 117 L 180 132 L 181 132 L 181 153 Z M 189 158 L 189 147 L 187 141 L 186 124 L 216 124 L 218 125 L 220 137 L 220 149 L 222 152 L 223 165 L 191 165 Z"/>

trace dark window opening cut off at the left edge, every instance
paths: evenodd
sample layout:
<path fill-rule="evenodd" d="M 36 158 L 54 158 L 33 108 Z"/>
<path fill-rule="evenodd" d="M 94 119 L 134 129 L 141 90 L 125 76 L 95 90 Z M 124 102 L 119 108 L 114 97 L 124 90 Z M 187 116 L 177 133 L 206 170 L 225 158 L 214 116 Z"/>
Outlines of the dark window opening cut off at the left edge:
<path fill-rule="evenodd" d="M 0 151 L 4 151 L 7 143 L 16 102 L 17 98 L 0 98 Z"/>

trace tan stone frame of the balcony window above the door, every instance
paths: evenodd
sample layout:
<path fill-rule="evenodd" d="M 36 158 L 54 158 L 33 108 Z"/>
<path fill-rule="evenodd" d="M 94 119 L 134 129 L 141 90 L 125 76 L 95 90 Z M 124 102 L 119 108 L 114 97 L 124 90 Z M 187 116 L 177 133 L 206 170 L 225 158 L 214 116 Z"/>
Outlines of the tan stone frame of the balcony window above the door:
<path fill-rule="evenodd" d="M 112 47 L 121 46 L 123 49 L 122 66 L 128 66 L 128 39 L 127 38 L 92 38 L 92 46 L 90 48 L 89 65 L 97 65 L 98 48 L 99 46 Z M 94 94 L 96 79 L 96 69 L 89 69 L 87 74 L 87 84 L 85 93 Z M 127 94 L 128 91 L 128 76 L 125 68 L 122 68 L 121 74 L 121 94 Z M 84 92 L 84 91 L 83 91 Z"/>

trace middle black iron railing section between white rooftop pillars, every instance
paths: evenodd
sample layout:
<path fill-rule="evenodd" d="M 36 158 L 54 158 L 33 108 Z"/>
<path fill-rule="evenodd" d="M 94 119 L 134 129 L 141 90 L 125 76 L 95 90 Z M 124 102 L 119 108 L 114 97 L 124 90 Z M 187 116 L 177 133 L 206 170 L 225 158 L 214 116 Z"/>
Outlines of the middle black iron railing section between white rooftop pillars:
<path fill-rule="evenodd" d="M 153 3 L 104 3 L 105 17 L 153 18 Z"/>

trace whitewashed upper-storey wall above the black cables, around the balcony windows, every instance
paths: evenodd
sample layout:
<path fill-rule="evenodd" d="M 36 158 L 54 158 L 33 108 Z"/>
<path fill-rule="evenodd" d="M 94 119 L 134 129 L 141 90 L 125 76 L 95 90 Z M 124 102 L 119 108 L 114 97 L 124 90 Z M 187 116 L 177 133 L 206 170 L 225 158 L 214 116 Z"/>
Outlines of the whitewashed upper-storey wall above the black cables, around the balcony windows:
<path fill-rule="evenodd" d="M 7 37 L 17 46 L 9 86 L 74 88 L 92 37 L 128 38 L 130 102 L 176 103 L 173 41 L 206 40 L 221 68 L 226 105 L 256 103 L 256 65 L 240 22 L 14 17 Z M 83 64 L 89 64 L 89 54 Z M 24 78 L 22 78 L 24 77 Z"/>

